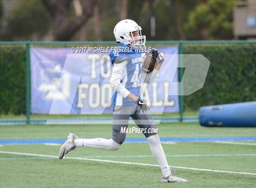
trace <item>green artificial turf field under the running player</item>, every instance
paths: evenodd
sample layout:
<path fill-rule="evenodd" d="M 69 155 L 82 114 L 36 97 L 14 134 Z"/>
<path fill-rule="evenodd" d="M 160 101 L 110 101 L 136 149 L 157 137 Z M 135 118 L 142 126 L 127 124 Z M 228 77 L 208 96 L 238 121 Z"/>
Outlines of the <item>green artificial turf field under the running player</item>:
<path fill-rule="evenodd" d="M 165 138 L 256 136 L 255 128 L 207 128 L 195 123 L 161 124 L 158 128 L 160 137 Z M 81 138 L 108 138 L 111 126 L 0 126 L 0 139 L 63 139 L 69 132 Z M 143 135 L 128 134 L 127 138 Z M 176 167 L 176 175 L 190 180 L 183 184 L 158 183 L 161 172 L 147 143 L 124 143 L 121 149 L 111 152 L 78 148 L 62 160 L 57 158 L 59 148 L 2 144 L 0 187 L 256 186 L 255 141 L 163 144 L 169 164 Z"/>

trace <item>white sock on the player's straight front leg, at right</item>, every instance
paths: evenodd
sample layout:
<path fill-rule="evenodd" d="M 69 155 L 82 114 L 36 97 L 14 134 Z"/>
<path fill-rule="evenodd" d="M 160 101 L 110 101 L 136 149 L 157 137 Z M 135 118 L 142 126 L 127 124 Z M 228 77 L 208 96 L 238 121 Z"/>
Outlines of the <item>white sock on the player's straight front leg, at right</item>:
<path fill-rule="evenodd" d="M 171 170 L 166 161 L 165 152 L 163 151 L 163 147 L 161 145 L 161 141 L 158 135 L 152 135 L 148 138 L 149 146 L 152 152 L 152 155 L 157 159 L 157 162 L 162 170 L 163 176 L 167 177 L 171 175 Z"/>

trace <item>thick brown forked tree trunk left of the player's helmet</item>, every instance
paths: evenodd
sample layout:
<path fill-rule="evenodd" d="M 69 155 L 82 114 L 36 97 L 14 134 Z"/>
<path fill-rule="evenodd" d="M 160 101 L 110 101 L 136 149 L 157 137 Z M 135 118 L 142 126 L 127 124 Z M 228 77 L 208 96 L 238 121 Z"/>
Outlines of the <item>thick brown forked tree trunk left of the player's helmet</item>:
<path fill-rule="evenodd" d="M 82 13 L 71 13 L 71 0 L 41 0 L 52 18 L 54 39 L 68 41 L 93 16 L 96 0 L 80 1 Z"/>

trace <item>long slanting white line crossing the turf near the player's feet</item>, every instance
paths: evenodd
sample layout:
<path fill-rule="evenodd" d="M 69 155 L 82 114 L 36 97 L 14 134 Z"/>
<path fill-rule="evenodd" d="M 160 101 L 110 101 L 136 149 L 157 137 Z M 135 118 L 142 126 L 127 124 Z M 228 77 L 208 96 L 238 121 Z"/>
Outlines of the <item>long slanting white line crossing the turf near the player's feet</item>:
<path fill-rule="evenodd" d="M 55 156 L 55 155 L 41 155 L 41 154 L 35 154 L 35 153 L 4 152 L 4 151 L 0 151 L 0 153 L 13 154 L 13 155 L 27 155 L 27 156 L 59 158 L 59 156 Z M 98 162 L 104 162 L 104 163 L 133 164 L 133 165 L 140 165 L 140 166 L 159 167 L 157 164 L 147 164 L 147 163 L 132 163 L 132 162 L 126 162 L 126 161 L 111 161 L 111 160 L 88 159 L 88 158 L 68 157 L 68 156 L 65 158 L 66 159 L 84 160 L 84 161 L 98 161 Z M 236 173 L 236 174 L 243 174 L 243 175 L 256 175 L 256 173 L 250 173 L 250 172 L 233 172 L 233 171 L 226 171 L 226 170 L 197 169 L 197 168 L 193 168 L 193 167 L 180 167 L 180 166 L 173 166 L 173 167 L 176 169 L 198 170 L 198 171 L 205 171 L 205 172 L 221 172 L 221 173 Z"/>

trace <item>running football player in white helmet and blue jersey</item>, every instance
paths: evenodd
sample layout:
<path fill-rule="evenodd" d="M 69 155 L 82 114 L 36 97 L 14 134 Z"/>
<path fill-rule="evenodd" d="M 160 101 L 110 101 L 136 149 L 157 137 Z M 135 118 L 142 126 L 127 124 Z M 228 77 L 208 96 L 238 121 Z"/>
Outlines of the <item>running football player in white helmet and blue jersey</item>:
<path fill-rule="evenodd" d="M 77 138 L 69 133 L 68 139 L 62 145 L 59 158 L 76 147 L 91 147 L 106 150 L 118 150 L 126 138 L 126 133 L 121 132 L 122 127 L 127 128 L 129 118 L 135 121 L 138 127 L 144 130 L 157 129 L 151 115 L 147 113 L 148 105 L 140 98 L 141 84 L 151 82 L 157 75 L 162 62 L 155 65 L 152 72 L 142 68 L 141 52 L 136 47 L 145 46 L 146 36 L 141 35 L 141 27 L 130 19 L 124 19 L 116 24 L 113 33 L 119 45 L 116 50 L 110 53 L 113 64 L 110 86 L 115 90 L 113 97 L 113 128 L 112 138 Z M 127 50 L 128 49 L 128 50 Z M 151 50 L 152 59 L 158 59 L 156 49 Z M 152 155 L 157 160 L 162 170 L 160 182 L 187 182 L 183 178 L 174 176 L 174 171 L 169 167 L 165 152 L 157 133 L 144 132 L 148 139 Z"/>

